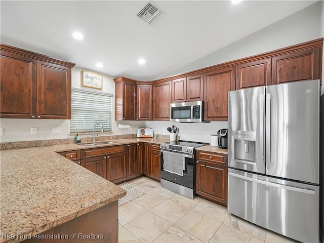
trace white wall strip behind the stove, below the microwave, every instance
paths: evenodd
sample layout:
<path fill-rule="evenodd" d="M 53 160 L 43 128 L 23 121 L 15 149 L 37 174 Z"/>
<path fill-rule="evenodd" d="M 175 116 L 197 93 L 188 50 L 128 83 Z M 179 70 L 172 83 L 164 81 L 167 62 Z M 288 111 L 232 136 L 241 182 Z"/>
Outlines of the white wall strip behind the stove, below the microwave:
<path fill-rule="evenodd" d="M 181 140 L 210 143 L 210 135 L 227 127 L 227 121 L 211 121 L 211 123 L 172 123 L 171 121 L 146 121 L 147 128 L 153 128 L 154 134 L 170 135 L 167 128 L 172 125 L 179 128 Z M 166 131 L 163 131 L 165 127 Z"/>

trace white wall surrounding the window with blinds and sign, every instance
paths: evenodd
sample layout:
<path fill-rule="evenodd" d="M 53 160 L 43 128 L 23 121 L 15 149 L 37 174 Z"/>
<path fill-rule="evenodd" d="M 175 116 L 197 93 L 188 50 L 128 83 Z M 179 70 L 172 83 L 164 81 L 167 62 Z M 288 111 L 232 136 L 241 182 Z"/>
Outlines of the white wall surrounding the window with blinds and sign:
<path fill-rule="evenodd" d="M 72 68 L 72 87 L 94 90 L 91 88 L 82 87 L 82 70 L 78 67 Z M 115 94 L 115 83 L 112 76 L 103 75 L 102 92 Z M 98 91 L 98 90 L 96 90 Z M 114 103 L 114 100 L 113 100 Z M 114 106 L 113 106 L 114 107 Z M 145 127 L 144 121 L 115 121 L 113 110 L 112 134 L 101 134 L 99 136 L 107 135 L 123 135 L 135 134 L 137 128 Z M 126 129 L 118 129 L 117 124 L 129 124 L 132 126 L 132 131 Z M 47 140 L 60 138 L 73 138 L 70 136 L 70 120 L 62 119 L 9 119 L 1 118 L 0 127 L 4 129 L 4 136 L 0 137 L 1 142 L 17 142 L 30 140 Z M 61 134 L 53 134 L 53 128 L 60 127 Z M 31 135 L 30 129 L 37 128 L 37 134 Z M 91 137 L 91 135 L 82 135 L 81 137 Z"/>

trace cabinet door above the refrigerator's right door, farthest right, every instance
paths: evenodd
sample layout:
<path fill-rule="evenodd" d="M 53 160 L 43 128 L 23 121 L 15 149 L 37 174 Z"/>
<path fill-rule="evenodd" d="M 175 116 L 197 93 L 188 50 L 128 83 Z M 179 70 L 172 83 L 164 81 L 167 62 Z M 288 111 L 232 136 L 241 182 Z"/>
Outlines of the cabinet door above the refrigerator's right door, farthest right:
<path fill-rule="evenodd" d="M 272 85 L 320 79 L 321 48 L 311 48 L 272 58 Z"/>

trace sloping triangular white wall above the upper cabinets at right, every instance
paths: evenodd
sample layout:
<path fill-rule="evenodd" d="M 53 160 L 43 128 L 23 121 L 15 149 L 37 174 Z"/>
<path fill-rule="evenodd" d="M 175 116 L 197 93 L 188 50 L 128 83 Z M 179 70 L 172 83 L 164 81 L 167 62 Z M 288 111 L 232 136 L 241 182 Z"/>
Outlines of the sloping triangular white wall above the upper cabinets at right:
<path fill-rule="evenodd" d="M 296 14 L 176 69 L 163 77 L 186 73 L 323 37 L 322 2 L 319 1 Z M 235 30 L 233 29 L 233 31 Z"/>

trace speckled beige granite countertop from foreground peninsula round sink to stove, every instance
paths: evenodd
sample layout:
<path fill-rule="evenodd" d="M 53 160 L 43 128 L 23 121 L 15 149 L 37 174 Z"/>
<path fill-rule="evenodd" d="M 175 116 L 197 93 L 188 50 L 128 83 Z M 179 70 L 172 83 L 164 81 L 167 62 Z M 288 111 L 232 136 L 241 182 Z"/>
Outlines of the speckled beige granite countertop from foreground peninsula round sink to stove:
<path fill-rule="evenodd" d="M 124 189 L 57 152 L 167 140 L 114 141 L 98 146 L 61 144 L 1 150 L 0 241 L 23 241 L 24 235 L 44 232 L 126 195 Z"/>

